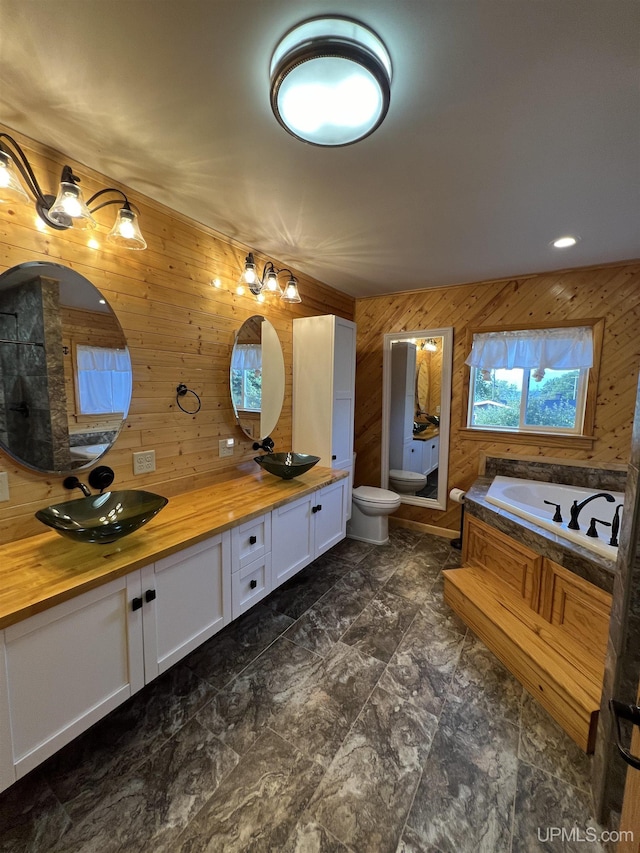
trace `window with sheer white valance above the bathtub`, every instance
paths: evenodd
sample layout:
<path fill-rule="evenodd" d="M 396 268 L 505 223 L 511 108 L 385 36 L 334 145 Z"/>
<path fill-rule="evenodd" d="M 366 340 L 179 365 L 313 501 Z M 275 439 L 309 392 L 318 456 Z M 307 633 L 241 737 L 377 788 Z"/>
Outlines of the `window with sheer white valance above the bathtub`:
<path fill-rule="evenodd" d="M 591 327 L 476 333 L 466 363 L 468 427 L 582 434 Z"/>

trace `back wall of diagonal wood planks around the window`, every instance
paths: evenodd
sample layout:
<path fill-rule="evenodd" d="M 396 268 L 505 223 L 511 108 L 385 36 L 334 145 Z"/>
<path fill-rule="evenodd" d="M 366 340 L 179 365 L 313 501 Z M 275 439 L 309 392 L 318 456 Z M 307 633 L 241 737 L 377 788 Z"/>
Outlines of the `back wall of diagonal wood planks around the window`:
<path fill-rule="evenodd" d="M 544 439 L 522 444 L 509 437 L 479 441 L 465 437 L 464 365 L 467 328 L 554 320 L 605 318 L 598 387 L 595 441 L 591 449 L 558 448 Z M 380 484 L 382 431 L 382 343 L 388 332 L 454 330 L 451 440 L 448 488 L 468 489 L 482 454 L 562 457 L 598 463 L 627 463 L 640 366 L 640 263 L 623 263 L 511 281 L 481 282 L 390 296 L 358 299 L 355 485 Z M 366 389 L 366 393 L 360 389 Z M 401 518 L 448 529 L 459 526 L 459 506 L 446 511 L 402 506 Z"/>

